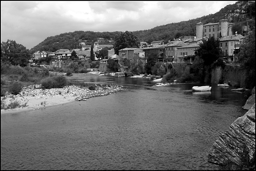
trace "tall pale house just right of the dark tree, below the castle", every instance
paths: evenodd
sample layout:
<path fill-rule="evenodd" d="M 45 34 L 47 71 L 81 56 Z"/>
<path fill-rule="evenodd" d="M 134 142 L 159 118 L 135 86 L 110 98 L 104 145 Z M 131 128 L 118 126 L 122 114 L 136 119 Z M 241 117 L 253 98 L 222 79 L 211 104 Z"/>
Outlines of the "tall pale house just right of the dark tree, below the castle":
<path fill-rule="evenodd" d="M 221 56 L 228 61 L 237 61 L 236 55 L 234 56 L 234 51 L 236 52 L 240 49 L 240 44 L 242 43 L 243 39 L 244 36 L 240 34 L 221 37 L 219 39 L 219 46 L 222 49 Z"/>

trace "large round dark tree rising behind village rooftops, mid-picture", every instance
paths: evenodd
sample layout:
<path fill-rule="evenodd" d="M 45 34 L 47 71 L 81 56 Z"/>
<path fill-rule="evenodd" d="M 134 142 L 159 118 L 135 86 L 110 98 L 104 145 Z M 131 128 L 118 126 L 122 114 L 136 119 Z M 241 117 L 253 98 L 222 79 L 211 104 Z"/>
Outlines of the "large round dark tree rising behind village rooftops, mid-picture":
<path fill-rule="evenodd" d="M 125 31 L 121 32 L 114 37 L 114 54 L 118 54 L 120 49 L 126 47 L 139 47 L 140 42 L 138 38 L 134 36 L 133 32 Z"/>

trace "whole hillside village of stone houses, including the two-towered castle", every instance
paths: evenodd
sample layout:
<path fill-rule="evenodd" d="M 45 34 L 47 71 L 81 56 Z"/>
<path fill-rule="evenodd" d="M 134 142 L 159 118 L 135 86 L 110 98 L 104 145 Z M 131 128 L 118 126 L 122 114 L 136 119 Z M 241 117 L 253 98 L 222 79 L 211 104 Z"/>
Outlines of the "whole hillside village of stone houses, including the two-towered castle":
<path fill-rule="evenodd" d="M 98 38 L 97 42 L 94 42 L 94 45 L 86 45 L 85 42 L 81 42 L 81 49 L 59 49 L 56 52 L 44 52 L 38 51 L 32 55 L 31 63 L 33 61 L 44 58 L 52 57 L 52 60 L 49 65 L 61 67 L 69 59 L 73 51 L 76 52 L 77 57 L 80 61 L 88 62 L 91 60 L 91 48 L 93 48 L 94 54 L 99 52 L 103 48 L 107 47 L 108 55 L 102 58 L 97 58 L 95 56 L 95 63 L 99 61 L 98 69 L 90 69 L 90 71 L 99 71 L 105 72 L 107 67 L 106 63 L 109 58 L 114 60 L 120 60 L 127 58 L 132 60 L 136 58 L 137 61 L 141 61 L 144 64 L 147 63 L 149 54 L 155 54 L 158 56 L 158 62 L 163 63 L 193 63 L 194 56 L 196 55 L 196 50 L 199 48 L 199 44 L 203 40 L 209 39 L 209 37 L 219 38 L 220 48 L 222 49 L 221 57 L 227 60 L 230 63 L 236 63 L 237 54 L 239 53 L 240 45 L 243 42 L 244 36 L 241 34 L 233 34 L 232 26 L 233 23 L 229 23 L 227 19 L 221 19 L 218 23 L 208 23 L 203 24 L 201 22 L 196 24 L 196 36 L 181 36 L 174 40 L 169 40 L 167 44 L 164 44 L 163 40 L 153 41 L 150 44 L 146 42 L 140 42 L 139 47 L 137 48 L 123 48 L 118 51 L 119 54 L 114 54 L 113 45 L 99 45 L 102 38 Z M 248 32 L 249 28 L 247 26 L 243 27 L 243 31 Z M 35 64 L 35 63 L 34 63 Z"/>

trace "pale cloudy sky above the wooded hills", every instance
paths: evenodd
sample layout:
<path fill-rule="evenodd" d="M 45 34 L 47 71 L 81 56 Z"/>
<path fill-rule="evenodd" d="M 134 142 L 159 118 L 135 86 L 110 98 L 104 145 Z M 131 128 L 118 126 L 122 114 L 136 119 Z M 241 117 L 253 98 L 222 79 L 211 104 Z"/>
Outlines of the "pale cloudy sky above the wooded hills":
<path fill-rule="evenodd" d="M 236 1 L 1 1 L 1 42 L 27 49 L 74 31 L 148 30 L 214 14 Z M 196 23 L 195 23 L 196 24 Z"/>

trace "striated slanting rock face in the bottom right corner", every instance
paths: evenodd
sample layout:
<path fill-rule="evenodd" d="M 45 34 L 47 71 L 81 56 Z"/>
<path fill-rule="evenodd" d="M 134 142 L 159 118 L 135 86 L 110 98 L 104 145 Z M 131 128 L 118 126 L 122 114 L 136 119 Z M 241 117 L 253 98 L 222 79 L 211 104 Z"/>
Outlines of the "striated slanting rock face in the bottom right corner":
<path fill-rule="evenodd" d="M 215 141 L 210 148 L 208 162 L 218 164 L 222 169 L 231 163 L 231 168 L 236 169 L 245 160 L 243 156 L 245 147 L 251 159 L 255 154 L 255 103 Z"/>

